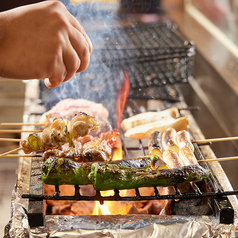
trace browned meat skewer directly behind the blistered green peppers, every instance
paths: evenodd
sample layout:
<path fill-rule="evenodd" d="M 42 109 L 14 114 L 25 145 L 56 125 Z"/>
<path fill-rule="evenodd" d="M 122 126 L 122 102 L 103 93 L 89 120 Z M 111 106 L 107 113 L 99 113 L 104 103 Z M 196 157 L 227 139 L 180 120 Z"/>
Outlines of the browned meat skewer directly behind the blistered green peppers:
<path fill-rule="evenodd" d="M 68 143 L 60 149 L 51 149 L 43 153 L 43 160 L 50 156 L 74 159 L 78 162 L 109 161 L 111 160 L 112 148 L 115 145 L 118 131 L 102 133 L 99 138 L 87 135 L 74 141 L 74 147 Z"/>

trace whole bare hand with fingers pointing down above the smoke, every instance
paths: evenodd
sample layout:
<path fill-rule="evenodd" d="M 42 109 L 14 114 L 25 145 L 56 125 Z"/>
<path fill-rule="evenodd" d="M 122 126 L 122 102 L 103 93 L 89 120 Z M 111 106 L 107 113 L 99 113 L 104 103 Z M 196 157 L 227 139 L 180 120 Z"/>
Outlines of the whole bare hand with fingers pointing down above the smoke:
<path fill-rule="evenodd" d="M 58 1 L 0 13 L 0 76 L 59 86 L 89 64 L 92 43 Z"/>

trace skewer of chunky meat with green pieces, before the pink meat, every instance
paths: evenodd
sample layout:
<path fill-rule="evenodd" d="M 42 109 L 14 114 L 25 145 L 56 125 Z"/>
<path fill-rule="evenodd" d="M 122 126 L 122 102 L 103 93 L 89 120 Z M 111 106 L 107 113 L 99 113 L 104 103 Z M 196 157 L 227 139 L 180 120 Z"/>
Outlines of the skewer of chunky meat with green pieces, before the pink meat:
<path fill-rule="evenodd" d="M 45 151 L 64 143 L 74 147 L 73 140 L 88 135 L 91 131 L 98 129 L 99 125 L 99 121 L 86 113 L 79 113 L 71 121 L 56 119 L 42 132 L 30 134 L 27 140 L 21 142 L 21 146 L 26 154 L 32 151 Z"/>

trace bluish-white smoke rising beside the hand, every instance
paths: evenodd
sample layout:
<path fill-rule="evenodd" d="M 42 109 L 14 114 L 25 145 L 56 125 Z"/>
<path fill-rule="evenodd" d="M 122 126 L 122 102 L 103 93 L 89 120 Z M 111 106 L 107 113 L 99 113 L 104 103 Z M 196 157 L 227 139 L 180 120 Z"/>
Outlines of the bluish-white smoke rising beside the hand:
<path fill-rule="evenodd" d="M 115 109 L 123 74 L 112 62 L 104 62 L 100 49 L 104 49 L 103 52 L 106 54 L 105 49 L 108 48 L 110 37 L 118 34 L 114 27 L 119 18 L 115 4 L 102 5 L 96 2 L 72 4 L 68 0 L 61 2 L 84 27 L 92 41 L 93 52 L 89 67 L 59 87 L 48 89 L 41 83 L 43 103 L 49 109 L 66 98 L 83 98 L 102 103 L 112 111 Z M 113 44 L 116 46 L 117 43 Z"/>

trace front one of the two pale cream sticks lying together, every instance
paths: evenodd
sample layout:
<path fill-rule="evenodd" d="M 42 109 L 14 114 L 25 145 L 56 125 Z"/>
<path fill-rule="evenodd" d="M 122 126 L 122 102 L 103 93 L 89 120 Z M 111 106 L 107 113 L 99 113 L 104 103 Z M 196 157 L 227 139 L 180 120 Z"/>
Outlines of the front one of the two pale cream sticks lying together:
<path fill-rule="evenodd" d="M 163 133 L 168 128 L 174 128 L 176 131 L 187 130 L 188 117 L 180 117 L 178 119 L 164 118 L 157 122 L 136 126 L 127 130 L 125 137 L 137 140 L 146 139 L 149 138 L 153 132 L 159 131 L 160 133 Z"/>

